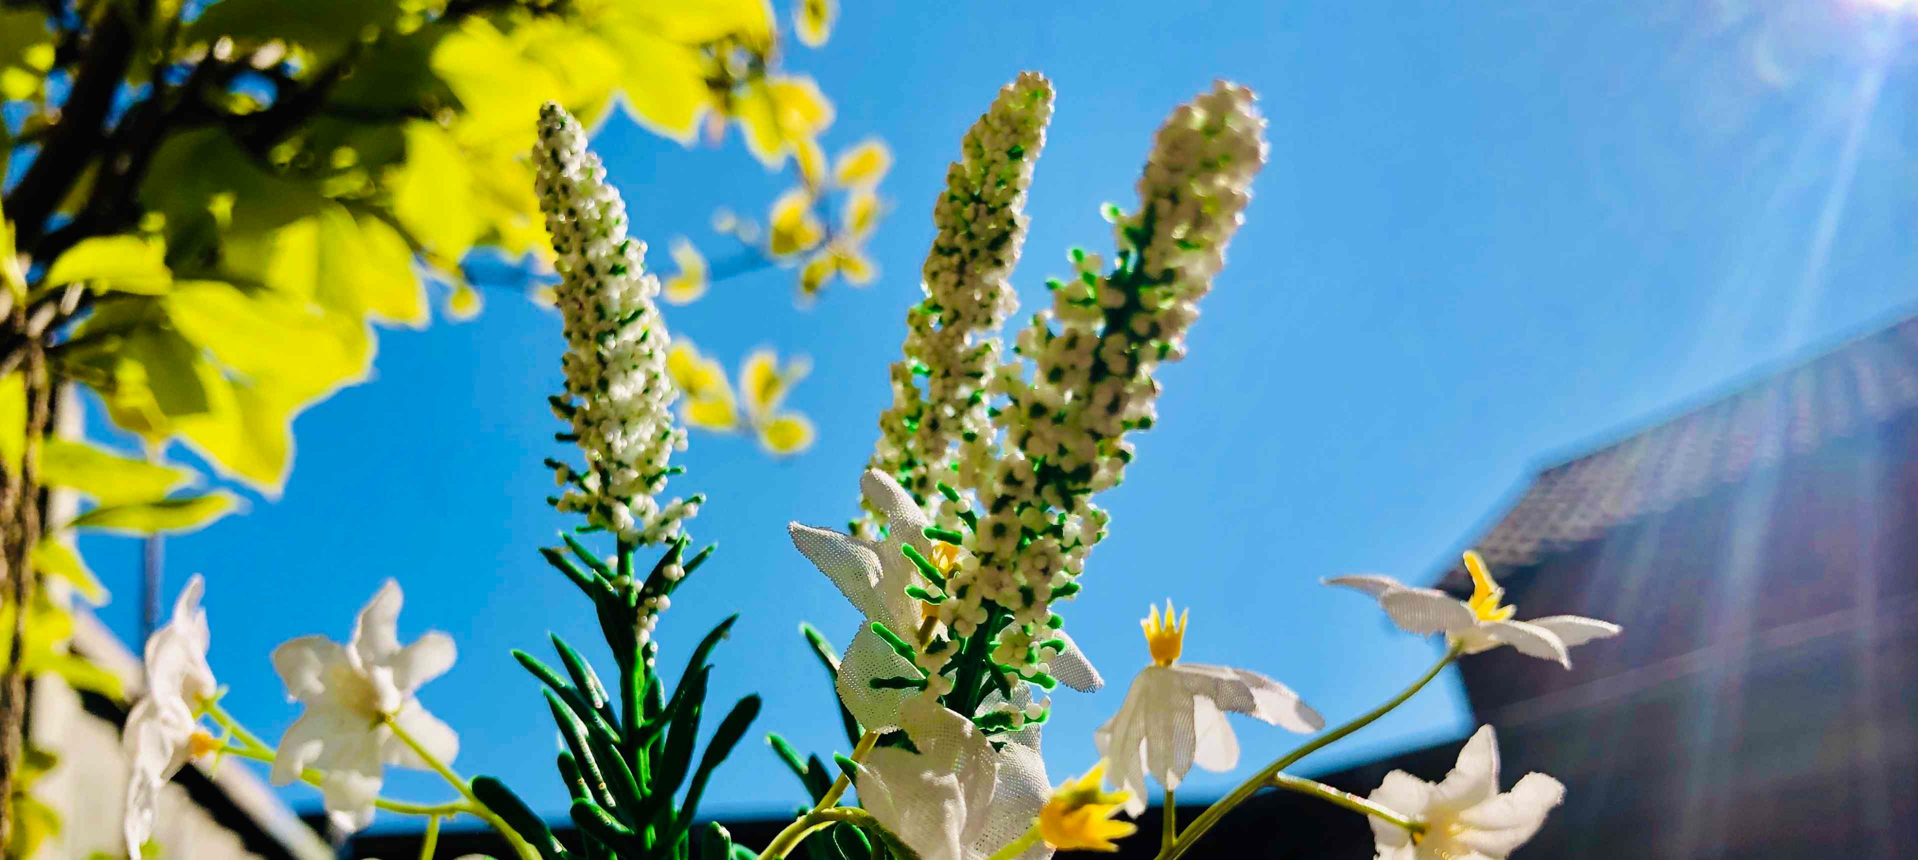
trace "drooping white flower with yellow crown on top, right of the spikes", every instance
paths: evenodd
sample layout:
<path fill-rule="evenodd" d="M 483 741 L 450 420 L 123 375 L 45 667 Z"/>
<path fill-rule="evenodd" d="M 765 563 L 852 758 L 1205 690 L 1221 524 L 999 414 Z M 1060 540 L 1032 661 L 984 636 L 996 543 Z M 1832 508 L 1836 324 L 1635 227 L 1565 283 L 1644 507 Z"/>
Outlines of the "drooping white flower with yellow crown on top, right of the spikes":
<path fill-rule="evenodd" d="M 1126 812 L 1145 812 L 1147 774 L 1166 789 L 1178 789 L 1193 764 L 1214 774 L 1235 768 L 1239 739 L 1226 722 L 1228 710 L 1298 733 L 1325 728 L 1318 710 L 1272 678 L 1243 668 L 1178 662 L 1185 645 L 1185 614 L 1174 622 L 1172 601 L 1166 601 L 1164 622 L 1153 607 L 1141 626 L 1153 664 L 1139 670 L 1118 714 L 1093 735 L 1099 754 L 1111 762 L 1107 781 L 1130 795 Z"/>

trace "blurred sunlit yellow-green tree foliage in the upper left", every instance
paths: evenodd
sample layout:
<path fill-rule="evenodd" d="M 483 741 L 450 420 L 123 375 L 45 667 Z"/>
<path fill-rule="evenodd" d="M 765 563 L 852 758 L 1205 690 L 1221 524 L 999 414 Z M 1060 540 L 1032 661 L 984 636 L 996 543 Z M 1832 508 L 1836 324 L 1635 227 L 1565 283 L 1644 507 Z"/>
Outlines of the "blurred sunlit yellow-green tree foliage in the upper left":
<path fill-rule="evenodd" d="M 807 46 L 834 17 L 830 2 L 792 10 Z M 17 476 L 29 447 L 31 342 L 52 386 L 90 390 L 146 447 L 36 445 L 42 486 L 86 509 L 44 522 L 35 572 L 105 601 L 75 530 L 201 528 L 238 503 L 211 482 L 276 497 L 293 418 L 368 376 L 376 326 L 424 326 L 435 305 L 476 313 L 462 269 L 476 251 L 543 269 L 526 155 L 541 102 L 593 125 L 623 111 L 685 144 L 737 129 L 765 169 L 800 175 L 802 198 L 781 205 L 804 211 L 788 221 L 817 223 L 834 194 L 871 198 L 861 230 L 848 221 L 765 259 L 804 282 L 830 240 L 855 250 L 878 213 L 884 146 L 838 159 L 878 157 L 877 173 L 829 175 L 817 138 L 832 102 L 781 67 L 781 36 L 765 0 L 0 0 L 0 468 Z M 673 257 L 681 301 L 731 275 L 690 244 Z M 811 424 L 781 411 L 798 374 L 804 363 L 754 353 L 729 401 L 769 451 L 811 442 Z M 173 442 L 211 480 L 167 463 Z M 31 603 L 21 670 L 117 695 L 67 655 L 63 593 Z M 12 624 L 12 607 L 0 614 Z M 36 814 L 15 806 L 17 822 Z"/>

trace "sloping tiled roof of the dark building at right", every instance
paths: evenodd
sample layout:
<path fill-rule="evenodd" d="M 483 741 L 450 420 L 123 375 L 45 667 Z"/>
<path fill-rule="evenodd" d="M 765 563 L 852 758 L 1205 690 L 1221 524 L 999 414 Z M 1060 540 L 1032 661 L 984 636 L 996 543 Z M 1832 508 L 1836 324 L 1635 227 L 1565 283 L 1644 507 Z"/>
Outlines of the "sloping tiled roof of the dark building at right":
<path fill-rule="evenodd" d="M 1918 317 L 1546 468 L 1475 547 L 1496 568 L 1655 514 L 1918 407 Z"/>

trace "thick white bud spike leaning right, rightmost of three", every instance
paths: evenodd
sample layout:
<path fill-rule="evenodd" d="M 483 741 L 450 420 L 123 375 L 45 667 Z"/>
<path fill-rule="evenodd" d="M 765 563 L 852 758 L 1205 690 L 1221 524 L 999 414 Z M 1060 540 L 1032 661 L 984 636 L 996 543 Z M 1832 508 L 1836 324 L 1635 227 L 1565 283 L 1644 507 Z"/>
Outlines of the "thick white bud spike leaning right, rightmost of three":
<path fill-rule="evenodd" d="M 1030 632 L 1051 618 L 1051 591 L 1084 570 L 1105 536 L 1107 514 L 1091 493 L 1120 482 L 1132 461 L 1124 434 L 1157 417 L 1153 372 L 1185 355 L 1197 301 L 1224 265 L 1264 165 L 1264 129 L 1243 86 L 1218 83 L 1180 106 L 1139 179 L 1139 211 L 1114 219 L 1118 265 L 1107 273 L 1097 253 L 1074 251 L 1078 276 L 1055 282 L 1053 307 L 1018 332 L 1032 380 L 1018 363 L 992 376 L 1005 451 L 974 484 L 984 511 L 940 620 L 969 635 L 988 618 L 982 601 L 1009 609 L 1015 626 L 994 658 L 1022 676 L 1043 672 L 1047 655 L 1030 647 Z"/>

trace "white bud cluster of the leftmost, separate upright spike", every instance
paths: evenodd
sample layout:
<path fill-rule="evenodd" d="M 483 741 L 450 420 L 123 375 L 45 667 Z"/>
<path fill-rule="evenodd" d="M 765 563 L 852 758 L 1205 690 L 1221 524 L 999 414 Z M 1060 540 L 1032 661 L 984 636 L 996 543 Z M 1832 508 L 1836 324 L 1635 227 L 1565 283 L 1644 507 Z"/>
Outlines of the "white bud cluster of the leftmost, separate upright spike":
<path fill-rule="evenodd" d="M 702 497 L 654 499 L 687 432 L 673 426 L 671 338 L 654 303 L 660 282 L 643 267 L 646 244 L 627 238 L 620 192 L 587 150 L 585 129 L 556 104 L 539 111 L 533 163 L 562 276 L 554 303 L 566 330 L 566 394 L 552 403 L 585 453 L 585 468 L 554 466 L 566 491 L 552 505 L 585 514 L 621 543 L 667 541 Z"/>

